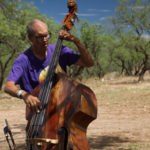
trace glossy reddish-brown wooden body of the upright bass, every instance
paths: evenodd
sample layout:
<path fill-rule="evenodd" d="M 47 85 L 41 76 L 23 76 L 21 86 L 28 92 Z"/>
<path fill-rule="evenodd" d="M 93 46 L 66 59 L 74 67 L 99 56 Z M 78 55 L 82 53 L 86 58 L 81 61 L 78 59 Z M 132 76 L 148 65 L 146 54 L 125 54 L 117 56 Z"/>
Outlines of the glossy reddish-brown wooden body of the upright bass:
<path fill-rule="evenodd" d="M 33 95 L 39 93 L 40 86 Z M 96 117 L 97 101 L 93 91 L 65 74 L 57 74 L 39 137 L 52 142 L 41 142 L 39 149 L 89 150 L 86 131 Z"/>

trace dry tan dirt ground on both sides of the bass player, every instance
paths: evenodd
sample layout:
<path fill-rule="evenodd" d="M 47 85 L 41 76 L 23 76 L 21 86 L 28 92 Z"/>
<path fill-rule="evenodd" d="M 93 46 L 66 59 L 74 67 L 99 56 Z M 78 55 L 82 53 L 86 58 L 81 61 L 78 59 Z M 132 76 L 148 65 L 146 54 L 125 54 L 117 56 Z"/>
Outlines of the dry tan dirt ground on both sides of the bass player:
<path fill-rule="evenodd" d="M 98 115 L 87 129 L 91 150 L 150 150 L 150 79 L 106 77 L 82 81 L 97 97 Z M 25 147 L 25 104 L 0 93 L 0 150 L 9 150 L 3 128 L 8 120 L 17 150 Z"/>

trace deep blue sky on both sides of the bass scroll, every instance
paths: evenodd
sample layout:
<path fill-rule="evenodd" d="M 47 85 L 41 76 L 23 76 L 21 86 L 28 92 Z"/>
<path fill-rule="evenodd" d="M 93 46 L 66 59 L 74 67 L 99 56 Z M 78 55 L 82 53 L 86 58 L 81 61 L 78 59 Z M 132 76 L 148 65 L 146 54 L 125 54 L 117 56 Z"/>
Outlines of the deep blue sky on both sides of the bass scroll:
<path fill-rule="evenodd" d="M 67 0 L 28 0 L 33 2 L 38 10 L 47 17 L 52 17 L 61 23 L 68 13 Z M 117 0 L 76 0 L 78 17 L 90 23 L 101 23 L 114 15 Z"/>

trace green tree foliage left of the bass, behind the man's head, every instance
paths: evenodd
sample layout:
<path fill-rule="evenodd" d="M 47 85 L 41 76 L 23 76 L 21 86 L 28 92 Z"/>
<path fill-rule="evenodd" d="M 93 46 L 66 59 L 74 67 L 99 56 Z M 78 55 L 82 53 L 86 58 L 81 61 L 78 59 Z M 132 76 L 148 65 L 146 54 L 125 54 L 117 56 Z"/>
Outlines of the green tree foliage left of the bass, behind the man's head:
<path fill-rule="evenodd" d="M 32 19 L 43 19 L 53 31 L 54 21 L 41 15 L 26 0 L 0 0 L 0 89 L 14 59 L 30 45 L 26 25 Z M 54 34 L 54 33 L 53 33 Z"/>

